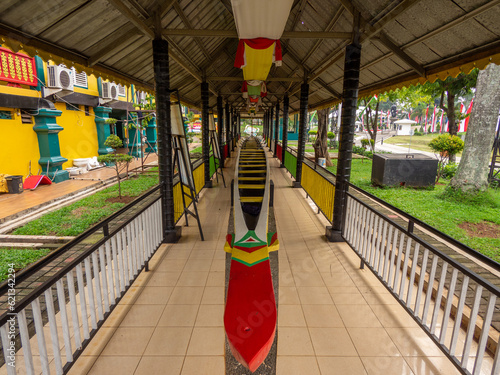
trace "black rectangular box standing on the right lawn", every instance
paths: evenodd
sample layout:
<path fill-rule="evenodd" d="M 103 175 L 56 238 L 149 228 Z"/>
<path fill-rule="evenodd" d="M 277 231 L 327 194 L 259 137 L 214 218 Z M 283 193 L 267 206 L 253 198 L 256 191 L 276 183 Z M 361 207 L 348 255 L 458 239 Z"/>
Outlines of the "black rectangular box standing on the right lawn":
<path fill-rule="evenodd" d="M 437 159 L 423 154 L 375 154 L 372 183 L 379 186 L 434 186 L 437 166 Z"/>

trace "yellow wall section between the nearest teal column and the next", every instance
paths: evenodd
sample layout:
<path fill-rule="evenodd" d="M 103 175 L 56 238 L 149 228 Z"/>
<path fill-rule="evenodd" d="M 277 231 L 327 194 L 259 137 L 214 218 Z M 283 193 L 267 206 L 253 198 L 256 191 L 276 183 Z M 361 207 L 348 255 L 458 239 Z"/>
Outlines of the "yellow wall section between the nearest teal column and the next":
<path fill-rule="evenodd" d="M 56 118 L 57 124 L 64 130 L 59 132 L 61 156 L 68 159 L 63 168 L 73 166 L 73 159 L 98 156 L 97 128 L 94 110 L 90 108 L 90 116 L 85 115 L 84 106 L 80 111 L 68 111 L 65 103 L 56 103 L 56 109 L 62 115 Z"/>

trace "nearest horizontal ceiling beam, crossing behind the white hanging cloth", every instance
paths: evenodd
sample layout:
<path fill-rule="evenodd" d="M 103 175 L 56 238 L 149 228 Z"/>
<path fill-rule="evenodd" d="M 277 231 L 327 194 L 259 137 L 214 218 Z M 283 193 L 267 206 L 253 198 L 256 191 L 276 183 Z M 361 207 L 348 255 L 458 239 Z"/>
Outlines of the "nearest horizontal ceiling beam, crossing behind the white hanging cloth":
<path fill-rule="evenodd" d="M 117 0 L 113 0 L 117 1 Z M 238 39 L 236 30 L 213 29 L 163 29 L 165 36 L 189 36 L 195 38 L 218 37 Z M 281 39 L 351 39 L 352 33 L 336 31 L 284 31 Z"/>

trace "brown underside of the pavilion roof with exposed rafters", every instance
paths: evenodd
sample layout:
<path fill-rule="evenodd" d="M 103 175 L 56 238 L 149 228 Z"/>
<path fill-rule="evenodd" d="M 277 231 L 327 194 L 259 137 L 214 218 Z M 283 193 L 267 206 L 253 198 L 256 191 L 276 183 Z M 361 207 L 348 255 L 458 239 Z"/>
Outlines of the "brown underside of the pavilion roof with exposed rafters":
<path fill-rule="evenodd" d="M 264 106 L 287 92 L 291 111 L 298 110 L 304 78 L 311 109 L 338 102 L 354 23 L 366 95 L 500 63 L 498 20 L 500 0 L 295 0 L 281 38 L 283 65 L 270 71 Z M 211 106 L 216 94 L 243 106 L 230 0 L 3 0 L 0 43 L 152 90 L 159 22 L 169 41 L 171 88 L 200 107 L 206 77 Z"/>

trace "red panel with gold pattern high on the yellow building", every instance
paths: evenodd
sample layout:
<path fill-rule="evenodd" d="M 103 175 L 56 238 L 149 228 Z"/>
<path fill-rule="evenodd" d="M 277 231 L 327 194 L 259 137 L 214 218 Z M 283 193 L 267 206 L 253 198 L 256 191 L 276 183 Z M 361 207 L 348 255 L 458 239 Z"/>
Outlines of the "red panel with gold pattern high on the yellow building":
<path fill-rule="evenodd" d="M 0 48 L 0 81 L 36 86 L 35 59 Z"/>

